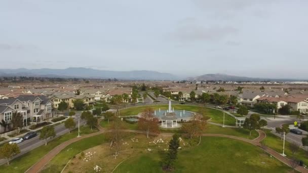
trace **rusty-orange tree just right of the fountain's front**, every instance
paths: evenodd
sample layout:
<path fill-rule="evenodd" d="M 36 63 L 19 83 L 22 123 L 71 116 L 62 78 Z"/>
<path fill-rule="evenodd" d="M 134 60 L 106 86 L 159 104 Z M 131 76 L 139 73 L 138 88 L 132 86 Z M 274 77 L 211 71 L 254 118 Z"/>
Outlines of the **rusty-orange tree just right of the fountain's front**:
<path fill-rule="evenodd" d="M 185 132 L 188 138 L 192 139 L 193 137 L 200 136 L 204 129 L 206 128 L 207 122 L 203 120 L 201 114 L 194 115 L 189 123 L 182 125 L 182 131 Z"/>

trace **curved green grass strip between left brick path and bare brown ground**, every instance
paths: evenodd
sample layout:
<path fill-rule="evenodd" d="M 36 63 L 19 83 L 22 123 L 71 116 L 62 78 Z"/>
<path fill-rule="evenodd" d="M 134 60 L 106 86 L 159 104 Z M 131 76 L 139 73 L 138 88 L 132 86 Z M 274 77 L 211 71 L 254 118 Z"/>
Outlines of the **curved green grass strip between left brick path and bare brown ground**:
<path fill-rule="evenodd" d="M 59 154 L 57 154 L 51 161 L 47 163 L 45 169 L 41 172 L 61 172 L 66 163 L 76 154 L 84 150 L 98 146 L 105 142 L 104 135 L 96 135 L 94 137 L 86 138 L 81 141 L 70 144 L 65 147 Z M 90 171 L 90 170 L 89 170 Z"/>

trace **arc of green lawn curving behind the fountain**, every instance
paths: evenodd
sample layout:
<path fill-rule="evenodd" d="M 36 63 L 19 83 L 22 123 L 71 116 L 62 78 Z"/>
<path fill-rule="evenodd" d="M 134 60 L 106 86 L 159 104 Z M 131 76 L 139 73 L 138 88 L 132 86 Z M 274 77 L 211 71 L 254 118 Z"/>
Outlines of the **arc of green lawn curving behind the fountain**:
<path fill-rule="evenodd" d="M 120 114 L 121 116 L 130 116 L 130 115 L 137 115 L 138 113 L 142 112 L 145 109 L 146 106 L 139 106 L 139 107 L 131 107 L 127 109 L 121 109 Z M 168 109 L 168 105 L 153 105 L 150 106 L 151 108 L 158 110 L 159 108 Z M 175 110 L 186 110 L 191 112 L 199 112 L 201 109 L 204 109 L 205 112 L 203 112 L 204 116 L 210 117 L 212 122 L 216 123 L 223 123 L 223 112 L 216 109 L 211 108 L 205 108 L 200 106 L 191 106 L 191 105 L 173 105 Z M 225 125 L 235 125 L 235 119 L 232 116 L 229 116 L 225 114 L 224 119 Z"/>

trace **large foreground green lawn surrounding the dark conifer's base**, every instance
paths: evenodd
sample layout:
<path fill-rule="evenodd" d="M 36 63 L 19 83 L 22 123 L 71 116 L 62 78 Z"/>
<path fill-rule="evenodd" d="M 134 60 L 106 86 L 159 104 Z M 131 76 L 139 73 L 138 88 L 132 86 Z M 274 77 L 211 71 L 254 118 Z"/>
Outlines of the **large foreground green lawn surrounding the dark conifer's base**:
<path fill-rule="evenodd" d="M 164 172 L 158 152 L 139 154 L 114 172 Z M 199 146 L 178 152 L 174 172 L 290 172 L 291 168 L 251 144 L 203 137 Z"/>

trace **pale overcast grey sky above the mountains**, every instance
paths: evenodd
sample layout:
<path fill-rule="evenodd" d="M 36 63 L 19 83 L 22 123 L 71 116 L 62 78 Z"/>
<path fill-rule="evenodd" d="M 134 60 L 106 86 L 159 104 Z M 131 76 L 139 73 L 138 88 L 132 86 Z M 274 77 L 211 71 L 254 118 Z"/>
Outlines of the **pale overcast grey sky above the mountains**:
<path fill-rule="evenodd" d="M 306 0 L 2 0 L 0 68 L 308 79 Z"/>

